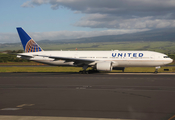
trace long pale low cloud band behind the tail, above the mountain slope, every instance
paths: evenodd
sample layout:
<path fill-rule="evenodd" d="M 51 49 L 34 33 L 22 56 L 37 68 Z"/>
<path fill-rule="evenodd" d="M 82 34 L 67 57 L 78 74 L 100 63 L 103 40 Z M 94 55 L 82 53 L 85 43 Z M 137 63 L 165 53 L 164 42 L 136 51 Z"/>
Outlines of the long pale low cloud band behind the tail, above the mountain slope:
<path fill-rule="evenodd" d="M 62 40 L 62 39 L 78 39 L 84 37 L 95 37 L 102 35 L 120 35 L 125 33 L 136 33 L 146 31 L 147 29 L 138 30 L 103 30 L 103 31 L 54 31 L 54 32 L 35 32 L 29 33 L 29 35 L 35 40 Z M 13 33 L 0 33 L 1 43 L 16 43 L 20 42 L 19 36 Z"/>

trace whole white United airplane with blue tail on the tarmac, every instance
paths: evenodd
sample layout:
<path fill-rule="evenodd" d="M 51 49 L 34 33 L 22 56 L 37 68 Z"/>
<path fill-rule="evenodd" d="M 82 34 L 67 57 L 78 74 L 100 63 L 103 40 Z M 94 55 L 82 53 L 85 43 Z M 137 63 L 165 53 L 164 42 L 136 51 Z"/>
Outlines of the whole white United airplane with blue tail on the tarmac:
<path fill-rule="evenodd" d="M 21 27 L 16 28 L 25 53 L 17 54 L 18 58 L 54 66 L 82 67 L 80 73 L 95 71 L 123 70 L 125 67 L 155 67 L 173 60 L 166 54 L 154 51 L 44 51 Z M 86 70 L 92 67 L 92 70 Z"/>

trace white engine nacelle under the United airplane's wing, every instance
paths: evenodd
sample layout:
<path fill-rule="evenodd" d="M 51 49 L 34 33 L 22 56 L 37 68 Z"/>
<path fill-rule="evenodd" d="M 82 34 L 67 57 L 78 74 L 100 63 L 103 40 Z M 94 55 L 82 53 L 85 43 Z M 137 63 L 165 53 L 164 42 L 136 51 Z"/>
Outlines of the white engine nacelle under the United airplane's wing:
<path fill-rule="evenodd" d="M 112 62 L 108 62 L 108 61 L 98 62 L 96 64 L 96 69 L 99 71 L 111 71 L 112 70 Z"/>

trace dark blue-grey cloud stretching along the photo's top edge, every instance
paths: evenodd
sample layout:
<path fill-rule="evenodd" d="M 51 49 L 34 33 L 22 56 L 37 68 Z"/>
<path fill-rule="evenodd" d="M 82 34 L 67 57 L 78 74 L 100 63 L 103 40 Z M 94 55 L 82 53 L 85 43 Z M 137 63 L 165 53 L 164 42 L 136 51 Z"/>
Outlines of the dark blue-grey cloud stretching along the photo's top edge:
<path fill-rule="evenodd" d="M 53 9 L 65 6 L 71 10 L 83 13 L 100 13 L 124 15 L 153 15 L 165 14 L 174 11 L 174 0 L 31 0 L 22 6 L 50 4 Z M 125 14 L 123 14 L 125 13 Z"/>

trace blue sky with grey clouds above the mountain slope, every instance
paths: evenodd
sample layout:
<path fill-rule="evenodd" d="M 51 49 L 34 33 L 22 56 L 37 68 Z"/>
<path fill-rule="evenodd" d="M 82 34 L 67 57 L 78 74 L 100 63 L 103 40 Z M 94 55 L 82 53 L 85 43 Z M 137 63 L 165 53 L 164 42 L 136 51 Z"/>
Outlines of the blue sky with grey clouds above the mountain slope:
<path fill-rule="evenodd" d="M 175 27 L 175 0 L 0 0 L 0 43 L 119 35 Z"/>

